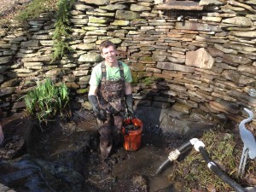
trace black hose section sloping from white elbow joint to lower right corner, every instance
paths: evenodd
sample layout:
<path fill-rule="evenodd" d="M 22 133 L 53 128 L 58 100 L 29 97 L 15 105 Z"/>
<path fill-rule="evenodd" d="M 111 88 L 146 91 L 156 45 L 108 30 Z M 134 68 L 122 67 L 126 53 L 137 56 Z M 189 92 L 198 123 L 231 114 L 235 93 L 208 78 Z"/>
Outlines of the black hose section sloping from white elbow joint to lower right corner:
<path fill-rule="evenodd" d="M 236 190 L 236 192 L 246 192 L 246 190 L 243 189 L 240 184 L 236 183 L 232 178 L 227 176 L 224 172 L 221 171 L 221 169 L 218 166 L 216 166 L 214 162 L 212 162 L 205 148 L 199 147 L 199 151 L 203 159 L 207 161 L 208 167 L 212 172 L 214 172 L 218 177 L 220 177 L 225 183 L 228 183 L 231 188 Z"/>

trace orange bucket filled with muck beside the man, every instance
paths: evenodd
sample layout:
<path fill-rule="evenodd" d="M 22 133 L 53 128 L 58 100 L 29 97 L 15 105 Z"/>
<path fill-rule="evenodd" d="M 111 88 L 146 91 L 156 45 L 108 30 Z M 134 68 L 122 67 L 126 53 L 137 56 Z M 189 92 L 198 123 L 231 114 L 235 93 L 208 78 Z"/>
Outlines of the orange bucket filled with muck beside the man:
<path fill-rule="evenodd" d="M 125 125 L 137 126 L 137 130 L 126 130 Z M 136 151 L 141 148 L 143 122 L 140 119 L 125 119 L 123 126 L 124 148 L 127 151 Z"/>

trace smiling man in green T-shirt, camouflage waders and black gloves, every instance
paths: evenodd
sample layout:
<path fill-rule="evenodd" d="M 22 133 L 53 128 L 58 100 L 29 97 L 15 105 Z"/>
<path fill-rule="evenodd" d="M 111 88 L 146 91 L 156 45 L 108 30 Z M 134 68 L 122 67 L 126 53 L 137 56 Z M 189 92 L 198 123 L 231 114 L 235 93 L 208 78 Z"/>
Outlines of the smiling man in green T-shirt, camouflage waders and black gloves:
<path fill-rule="evenodd" d="M 93 68 L 90 77 L 89 101 L 97 119 L 102 121 L 99 127 L 102 159 L 107 159 L 114 145 L 122 142 L 125 108 L 133 115 L 131 71 L 117 60 L 115 45 L 105 40 L 100 44 L 102 61 Z"/>

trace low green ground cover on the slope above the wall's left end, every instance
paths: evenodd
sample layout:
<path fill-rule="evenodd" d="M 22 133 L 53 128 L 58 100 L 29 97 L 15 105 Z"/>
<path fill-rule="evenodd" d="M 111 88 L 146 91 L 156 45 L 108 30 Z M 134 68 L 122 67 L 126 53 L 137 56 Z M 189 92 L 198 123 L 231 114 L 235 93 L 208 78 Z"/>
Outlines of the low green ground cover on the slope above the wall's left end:
<path fill-rule="evenodd" d="M 49 9 L 55 9 L 56 0 L 33 0 L 26 5 L 25 9 L 22 9 L 16 16 L 15 20 L 24 22 L 28 19 L 37 18 L 40 14 Z"/>

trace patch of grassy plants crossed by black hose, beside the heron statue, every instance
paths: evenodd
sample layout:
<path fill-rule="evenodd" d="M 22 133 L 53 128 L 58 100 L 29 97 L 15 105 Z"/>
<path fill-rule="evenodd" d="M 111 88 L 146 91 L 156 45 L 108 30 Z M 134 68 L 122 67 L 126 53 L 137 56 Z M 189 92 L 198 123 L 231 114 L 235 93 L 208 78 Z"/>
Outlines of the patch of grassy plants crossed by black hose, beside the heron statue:
<path fill-rule="evenodd" d="M 236 150 L 234 135 L 207 131 L 201 141 L 206 144 L 206 149 L 211 159 L 222 167 L 226 174 L 236 179 L 236 157 L 238 151 Z M 175 173 L 185 183 L 183 192 L 189 192 L 191 189 L 202 191 L 214 189 L 214 191 L 218 192 L 231 190 L 227 183 L 224 183 L 223 180 L 208 169 L 207 163 L 203 160 L 201 154 L 194 149 L 186 156 L 183 162 L 177 164 Z"/>

